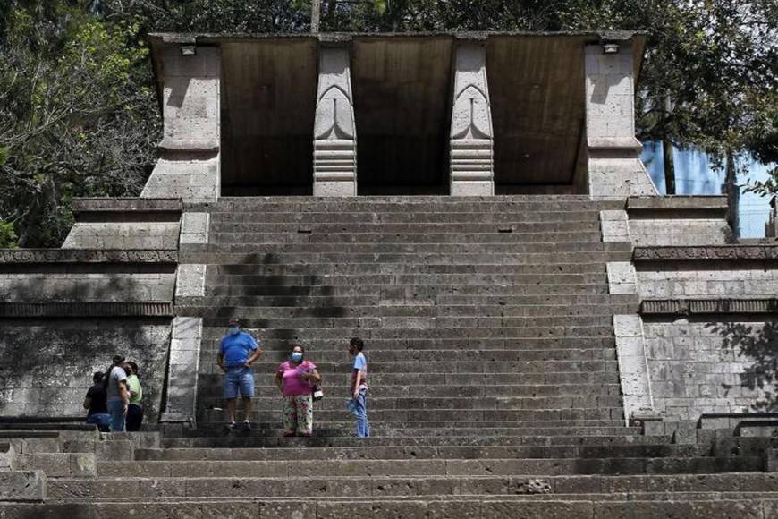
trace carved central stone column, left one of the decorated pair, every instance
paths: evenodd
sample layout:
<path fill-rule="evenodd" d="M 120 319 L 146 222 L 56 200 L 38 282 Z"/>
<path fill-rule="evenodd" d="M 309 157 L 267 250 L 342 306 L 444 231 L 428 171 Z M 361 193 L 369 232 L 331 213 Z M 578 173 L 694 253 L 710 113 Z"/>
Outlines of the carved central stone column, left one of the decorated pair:
<path fill-rule="evenodd" d="M 313 195 L 357 195 L 357 131 L 348 47 L 320 47 Z"/>

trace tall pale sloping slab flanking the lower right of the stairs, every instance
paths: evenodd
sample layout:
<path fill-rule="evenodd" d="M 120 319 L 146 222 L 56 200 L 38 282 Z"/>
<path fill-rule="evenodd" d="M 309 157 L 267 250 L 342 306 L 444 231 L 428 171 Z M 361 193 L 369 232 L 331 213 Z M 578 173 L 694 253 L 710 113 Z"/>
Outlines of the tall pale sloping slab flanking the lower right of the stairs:
<path fill-rule="evenodd" d="M 636 414 L 654 413 L 654 396 L 643 337 L 643 320 L 639 315 L 614 315 L 613 334 L 622 384 L 624 419 Z"/>

